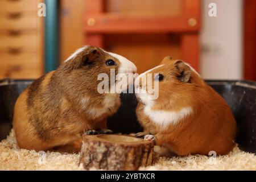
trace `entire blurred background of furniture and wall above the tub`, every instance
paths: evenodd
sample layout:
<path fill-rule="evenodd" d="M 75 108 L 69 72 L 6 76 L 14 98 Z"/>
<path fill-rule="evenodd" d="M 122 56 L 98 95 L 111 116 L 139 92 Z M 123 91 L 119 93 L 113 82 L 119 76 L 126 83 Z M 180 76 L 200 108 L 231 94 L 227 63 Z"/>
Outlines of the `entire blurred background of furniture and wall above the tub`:
<path fill-rule="evenodd" d="M 205 79 L 256 80 L 256 1 L 0 0 L 0 79 L 37 78 L 88 44 L 139 73 L 170 55 Z"/>

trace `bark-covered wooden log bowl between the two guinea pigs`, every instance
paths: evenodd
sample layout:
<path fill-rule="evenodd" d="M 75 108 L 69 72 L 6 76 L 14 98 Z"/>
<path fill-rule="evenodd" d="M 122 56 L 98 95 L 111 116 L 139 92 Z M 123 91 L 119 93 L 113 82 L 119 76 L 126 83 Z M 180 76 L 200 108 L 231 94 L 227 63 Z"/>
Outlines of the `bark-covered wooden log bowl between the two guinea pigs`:
<path fill-rule="evenodd" d="M 105 170 L 138 170 L 153 163 L 154 143 L 130 135 L 84 135 L 80 165 Z"/>

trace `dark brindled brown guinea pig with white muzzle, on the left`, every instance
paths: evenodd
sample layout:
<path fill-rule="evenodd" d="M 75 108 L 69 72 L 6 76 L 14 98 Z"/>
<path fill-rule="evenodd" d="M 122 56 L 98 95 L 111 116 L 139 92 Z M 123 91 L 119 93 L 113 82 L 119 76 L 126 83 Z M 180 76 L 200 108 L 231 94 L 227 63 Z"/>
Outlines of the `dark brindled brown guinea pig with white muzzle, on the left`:
<path fill-rule="evenodd" d="M 84 46 L 56 71 L 32 82 L 14 108 L 13 127 L 19 147 L 49 150 L 80 139 L 85 131 L 110 132 L 106 120 L 118 110 L 119 93 L 99 93 L 97 89 L 101 82 L 98 75 L 110 77 L 110 69 L 115 69 L 115 76 L 137 71 L 123 56 Z"/>

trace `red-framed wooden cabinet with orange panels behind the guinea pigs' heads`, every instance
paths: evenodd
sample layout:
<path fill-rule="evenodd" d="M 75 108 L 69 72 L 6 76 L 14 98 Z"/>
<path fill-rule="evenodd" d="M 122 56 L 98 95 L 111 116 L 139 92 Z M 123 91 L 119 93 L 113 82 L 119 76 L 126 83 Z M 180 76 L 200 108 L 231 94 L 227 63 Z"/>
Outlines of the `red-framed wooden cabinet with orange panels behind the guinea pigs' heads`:
<path fill-rule="evenodd" d="M 164 56 L 199 70 L 200 0 L 85 0 L 85 44 L 134 61 L 138 72 Z"/>

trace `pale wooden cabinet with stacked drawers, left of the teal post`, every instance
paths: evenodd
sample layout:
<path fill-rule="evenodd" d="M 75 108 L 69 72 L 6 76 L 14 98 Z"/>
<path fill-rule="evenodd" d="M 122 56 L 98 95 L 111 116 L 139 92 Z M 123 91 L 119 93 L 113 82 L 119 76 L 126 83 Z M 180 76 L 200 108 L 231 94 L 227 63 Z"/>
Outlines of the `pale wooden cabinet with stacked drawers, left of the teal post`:
<path fill-rule="evenodd" d="M 0 0 L 0 78 L 43 74 L 43 18 L 39 0 Z"/>

